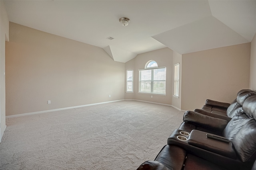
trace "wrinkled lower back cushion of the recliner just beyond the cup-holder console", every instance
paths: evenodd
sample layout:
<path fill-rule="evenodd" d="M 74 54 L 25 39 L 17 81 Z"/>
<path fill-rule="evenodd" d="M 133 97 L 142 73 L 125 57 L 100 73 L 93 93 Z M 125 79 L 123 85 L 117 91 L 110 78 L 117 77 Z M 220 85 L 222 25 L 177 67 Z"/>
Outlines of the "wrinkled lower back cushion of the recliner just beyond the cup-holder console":
<path fill-rule="evenodd" d="M 250 117 L 243 112 L 236 114 L 227 124 L 223 131 L 223 136 L 232 141 L 236 133 L 242 126 L 250 120 Z"/>

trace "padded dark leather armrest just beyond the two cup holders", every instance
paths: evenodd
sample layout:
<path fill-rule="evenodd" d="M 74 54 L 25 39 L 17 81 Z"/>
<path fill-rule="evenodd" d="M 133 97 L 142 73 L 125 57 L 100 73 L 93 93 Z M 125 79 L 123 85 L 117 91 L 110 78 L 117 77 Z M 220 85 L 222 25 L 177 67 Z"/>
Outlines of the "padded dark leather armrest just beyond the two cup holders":
<path fill-rule="evenodd" d="M 183 116 L 183 121 L 220 132 L 222 132 L 228 124 L 228 121 L 224 119 L 207 116 L 195 111 L 186 111 Z"/>

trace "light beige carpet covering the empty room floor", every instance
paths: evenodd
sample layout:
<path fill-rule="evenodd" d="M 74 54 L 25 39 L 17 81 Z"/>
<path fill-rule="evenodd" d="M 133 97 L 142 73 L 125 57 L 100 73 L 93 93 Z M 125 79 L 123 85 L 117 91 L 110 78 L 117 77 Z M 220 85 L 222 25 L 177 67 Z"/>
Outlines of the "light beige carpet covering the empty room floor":
<path fill-rule="evenodd" d="M 1 170 L 134 170 L 182 123 L 170 106 L 120 101 L 6 119 Z"/>

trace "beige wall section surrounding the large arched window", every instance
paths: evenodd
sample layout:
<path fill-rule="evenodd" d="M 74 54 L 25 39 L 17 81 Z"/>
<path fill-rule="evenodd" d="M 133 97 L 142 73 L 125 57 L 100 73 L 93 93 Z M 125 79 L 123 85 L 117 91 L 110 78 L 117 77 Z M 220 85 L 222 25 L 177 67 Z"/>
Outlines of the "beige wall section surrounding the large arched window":
<path fill-rule="evenodd" d="M 125 99 L 143 100 L 162 104 L 172 104 L 172 55 L 169 48 L 158 49 L 148 53 L 137 55 L 134 59 L 126 62 L 126 70 L 134 70 L 134 93 L 126 93 Z M 144 69 L 148 61 L 154 60 L 159 67 L 166 66 L 166 96 L 138 93 L 139 69 Z M 151 98 L 153 96 L 153 98 Z"/>

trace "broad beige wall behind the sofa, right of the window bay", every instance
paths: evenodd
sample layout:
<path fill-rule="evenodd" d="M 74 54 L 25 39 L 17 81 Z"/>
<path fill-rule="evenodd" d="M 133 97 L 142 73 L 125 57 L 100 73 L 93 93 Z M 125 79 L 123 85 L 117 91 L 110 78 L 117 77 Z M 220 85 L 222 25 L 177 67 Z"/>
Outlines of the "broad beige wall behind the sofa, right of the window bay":
<path fill-rule="evenodd" d="M 230 103 L 249 78 L 250 43 L 184 54 L 181 108 L 201 108 L 208 98 Z"/>

